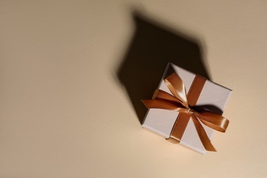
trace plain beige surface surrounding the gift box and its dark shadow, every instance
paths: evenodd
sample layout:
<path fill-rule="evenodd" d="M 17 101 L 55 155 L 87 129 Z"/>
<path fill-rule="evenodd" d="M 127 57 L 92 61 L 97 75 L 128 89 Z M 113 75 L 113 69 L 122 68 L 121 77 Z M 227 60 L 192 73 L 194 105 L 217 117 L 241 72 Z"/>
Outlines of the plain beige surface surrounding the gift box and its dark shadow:
<path fill-rule="evenodd" d="M 132 10 L 233 89 L 201 155 L 142 129 L 116 78 Z M 0 177 L 267 177 L 266 1 L 0 1 Z"/>

